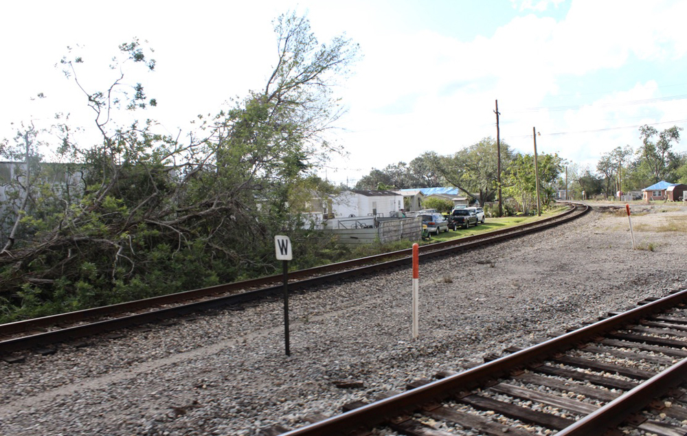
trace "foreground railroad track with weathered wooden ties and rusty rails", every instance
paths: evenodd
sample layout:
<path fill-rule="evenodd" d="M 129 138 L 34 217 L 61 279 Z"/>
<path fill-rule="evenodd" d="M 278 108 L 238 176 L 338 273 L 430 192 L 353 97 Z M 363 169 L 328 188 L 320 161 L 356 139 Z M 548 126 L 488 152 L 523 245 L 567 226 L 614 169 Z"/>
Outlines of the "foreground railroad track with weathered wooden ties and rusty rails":
<path fill-rule="evenodd" d="M 686 303 L 687 289 L 642 301 L 466 371 L 262 435 L 685 435 Z"/>

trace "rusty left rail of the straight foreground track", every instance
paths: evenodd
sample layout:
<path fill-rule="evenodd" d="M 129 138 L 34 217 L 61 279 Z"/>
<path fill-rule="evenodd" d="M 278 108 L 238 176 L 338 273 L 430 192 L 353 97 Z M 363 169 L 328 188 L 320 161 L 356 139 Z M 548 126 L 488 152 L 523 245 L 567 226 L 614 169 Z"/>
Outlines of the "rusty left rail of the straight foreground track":
<path fill-rule="evenodd" d="M 519 352 L 492 360 L 491 362 L 484 363 L 472 369 L 467 369 L 453 376 L 442 378 L 441 380 L 430 382 L 427 385 L 399 393 L 392 397 L 385 398 L 384 400 L 361 406 L 358 409 L 348 411 L 341 415 L 330 417 L 302 428 L 297 428 L 293 431 L 284 433 L 283 436 L 339 435 L 349 433 L 362 426 L 369 427 L 382 424 L 386 420 L 390 420 L 401 413 L 408 413 L 419 409 L 424 404 L 440 401 L 463 391 L 469 391 L 488 380 L 494 380 L 504 376 L 514 369 L 539 363 L 556 353 L 564 352 L 567 349 L 572 349 L 578 344 L 592 341 L 592 339 L 600 334 L 618 330 L 625 325 L 634 323 L 651 314 L 662 312 L 684 301 L 687 301 L 687 289 L 622 314 L 617 314 L 608 319 L 587 325 L 573 332 L 563 334 L 557 338 L 522 349 Z M 677 374 L 679 376 L 682 372 Z M 667 382 L 662 384 L 656 383 L 655 386 L 660 385 L 660 387 L 664 387 L 666 383 Z M 636 398 L 633 398 L 632 401 L 636 401 Z M 646 404 L 646 401 L 644 403 Z M 613 413 L 619 413 L 619 407 L 620 406 L 614 405 L 612 409 Z M 635 407 L 633 407 L 633 409 L 634 408 Z M 603 419 L 608 420 L 609 418 L 605 417 Z M 593 426 L 594 424 L 587 425 Z M 586 428 L 585 426 L 585 429 Z M 574 434 L 585 435 L 587 433 L 582 431 L 581 433 Z"/>

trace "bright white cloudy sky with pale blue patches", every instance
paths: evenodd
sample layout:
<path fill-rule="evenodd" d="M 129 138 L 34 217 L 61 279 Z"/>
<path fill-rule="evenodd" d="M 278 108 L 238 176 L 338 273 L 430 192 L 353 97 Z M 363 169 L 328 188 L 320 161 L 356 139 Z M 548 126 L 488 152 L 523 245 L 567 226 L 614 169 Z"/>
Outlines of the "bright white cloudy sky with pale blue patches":
<path fill-rule="evenodd" d="M 534 128 L 538 152 L 581 168 L 618 146 L 636 150 L 644 124 L 687 127 L 687 1 L 27 0 L 3 3 L 0 18 L 0 139 L 48 127 L 55 113 L 92 133 L 85 95 L 58 62 L 78 49 L 82 87 L 103 89 L 117 46 L 133 37 L 157 61 L 154 73 L 125 77 L 158 102 L 142 117 L 183 137 L 196 115 L 264 87 L 277 55 L 271 22 L 289 10 L 321 43 L 345 33 L 360 45 L 335 89 L 346 114 L 329 133 L 346 155 L 319 171 L 336 184 L 495 138 L 496 100 L 502 141 L 532 153 Z"/>

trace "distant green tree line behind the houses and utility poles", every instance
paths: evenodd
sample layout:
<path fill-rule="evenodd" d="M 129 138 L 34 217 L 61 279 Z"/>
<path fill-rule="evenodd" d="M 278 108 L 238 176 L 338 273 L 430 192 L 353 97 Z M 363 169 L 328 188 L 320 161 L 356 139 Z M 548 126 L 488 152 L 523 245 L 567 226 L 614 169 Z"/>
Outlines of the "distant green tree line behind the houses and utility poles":
<path fill-rule="evenodd" d="M 538 155 L 540 196 L 548 203 L 557 189 L 581 199 L 613 198 L 618 191 L 642 190 L 659 181 L 687 183 L 687 153 L 675 152 L 681 127 L 659 131 L 644 125 L 639 129 L 638 148 L 616 147 L 601 155 L 596 168 L 561 159 L 557 153 Z M 425 152 L 405 162 L 372 169 L 355 185 L 360 190 L 457 187 L 471 202 L 484 205 L 497 200 L 497 150 L 491 137 L 454 154 Z M 508 213 L 528 213 L 536 206 L 534 156 L 501 143 L 502 196 Z"/>

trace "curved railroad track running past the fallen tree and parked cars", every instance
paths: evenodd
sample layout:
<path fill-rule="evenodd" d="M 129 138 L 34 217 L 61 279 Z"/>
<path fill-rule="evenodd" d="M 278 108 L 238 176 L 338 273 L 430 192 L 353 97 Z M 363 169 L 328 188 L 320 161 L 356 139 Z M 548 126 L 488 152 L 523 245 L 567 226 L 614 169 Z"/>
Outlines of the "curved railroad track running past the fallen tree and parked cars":
<path fill-rule="evenodd" d="M 424 262 L 432 257 L 453 255 L 480 246 L 495 244 L 561 225 L 589 211 L 589 207 L 585 205 L 570 203 L 570 206 L 557 216 L 525 225 L 422 246 L 420 257 Z M 357 278 L 389 268 L 407 266 L 411 262 L 411 255 L 412 250 L 407 249 L 293 271 L 289 273 L 289 290 L 304 290 L 327 282 Z M 23 360 L 22 353 L 29 349 L 36 349 L 43 354 L 52 354 L 58 343 L 79 341 L 88 336 L 183 317 L 194 312 L 223 306 L 238 306 L 250 301 L 275 297 L 283 292 L 281 280 L 282 275 L 272 275 L 113 306 L 2 324 L 0 325 L 0 356 L 8 362 L 18 362 Z"/>

